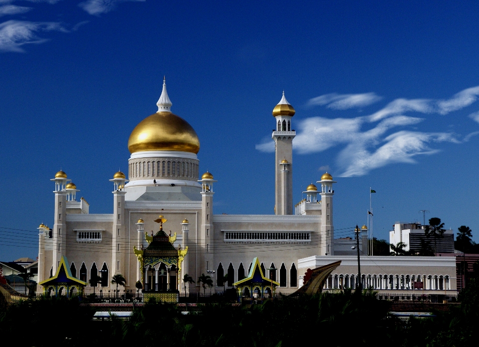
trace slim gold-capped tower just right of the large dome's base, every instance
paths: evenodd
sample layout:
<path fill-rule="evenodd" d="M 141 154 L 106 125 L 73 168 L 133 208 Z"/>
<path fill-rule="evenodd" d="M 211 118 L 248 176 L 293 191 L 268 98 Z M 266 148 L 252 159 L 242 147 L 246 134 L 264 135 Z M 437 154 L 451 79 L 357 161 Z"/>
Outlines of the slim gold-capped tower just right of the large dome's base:
<path fill-rule="evenodd" d="M 197 276 L 202 273 L 207 273 L 208 270 L 213 269 L 213 251 L 214 237 L 213 237 L 213 183 L 218 182 L 213 179 L 210 172 L 205 172 L 198 182 L 202 185 L 201 191 L 201 226 L 200 239 L 197 240 L 198 245 L 203 249 L 205 254 L 203 258 L 204 263 L 196 265 Z M 216 279 L 213 279 L 216 283 Z"/>

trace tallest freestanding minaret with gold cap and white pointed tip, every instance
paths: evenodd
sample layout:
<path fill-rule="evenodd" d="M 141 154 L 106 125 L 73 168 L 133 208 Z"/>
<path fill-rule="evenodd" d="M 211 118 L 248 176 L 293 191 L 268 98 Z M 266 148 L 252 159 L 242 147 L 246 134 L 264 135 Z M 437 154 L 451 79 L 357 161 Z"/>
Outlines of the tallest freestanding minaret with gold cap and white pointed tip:
<path fill-rule="evenodd" d="M 273 109 L 276 119 L 275 130 L 271 135 L 274 140 L 275 157 L 275 196 L 274 213 L 276 215 L 293 214 L 293 138 L 296 131 L 291 129 L 291 117 L 294 116 L 294 108 L 286 98 Z"/>

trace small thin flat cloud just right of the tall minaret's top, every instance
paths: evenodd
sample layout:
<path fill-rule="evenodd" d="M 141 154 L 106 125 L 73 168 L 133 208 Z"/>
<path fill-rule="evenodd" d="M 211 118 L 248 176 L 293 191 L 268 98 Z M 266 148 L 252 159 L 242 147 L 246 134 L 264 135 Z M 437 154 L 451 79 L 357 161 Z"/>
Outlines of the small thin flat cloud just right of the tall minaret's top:
<path fill-rule="evenodd" d="M 325 94 L 308 101 L 308 106 L 323 106 L 333 110 L 347 110 L 357 107 L 365 107 L 378 102 L 382 98 L 376 93 L 363 94 Z"/>

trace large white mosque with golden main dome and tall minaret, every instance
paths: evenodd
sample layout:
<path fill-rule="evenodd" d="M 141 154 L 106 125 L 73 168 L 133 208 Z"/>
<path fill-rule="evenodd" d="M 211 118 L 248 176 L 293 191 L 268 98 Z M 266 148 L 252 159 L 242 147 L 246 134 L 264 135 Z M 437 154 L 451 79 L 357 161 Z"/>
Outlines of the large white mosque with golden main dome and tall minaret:
<path fill-rule="evenodd" d="M 135 284 L 140 281 L 145 291 L 175 291 L 183 288 L 181 278 L 185 274 L 195 281 L 202 274 L 209 274 L 214 280 L 214 290 L 220 292 L 247 277 L 257 257 L 264 275 L 276 281 L 277 290 L 281 292 L 297 290 L 308 267 L 337 260 L 351 262 L 347 269 L 343 267 L 348 272 L 339 273 L 340 266 L 326 287 L 344 287 L 347 276 L 348 286 L 354 288 L 353 278 L 357 276 L 354 257 L 345 255 L 351 254 L 349 243 L 345 248 L 342 244 L 345 241 L 336 240 L 335 247 L 333 184 L 336 182 L 333 177 L 323 174 L 317 186 L 307 187 L 304 192 L 307 198 L 293 205 L 292 141 L 296 132 L 292 130 L 292 121 L 295 111 L 284 93 L 272 111 L 275 130 L 271 137 L 276 152 L 274 215 L 215 215 L 213 186 L 217 181 L 210 172 L 201 174 L 198 135 L 185 119 L 171 112 L 172 103 L 165 82 L 157 106 L 158 111 L 136 125 L 128 139 L 131 152 L 128 179 L 124 173 L 116 172 L 109 180 L 113 187 L 111 214 L 90 214 L 86 200 L 77 200 L 79 190 L 67 174 L 63 171 L 55 174 L 52 179 L 55 184 L 54 225 L 53 228 L 43 224 L 39 227 L 39 283 L 54 276 L 65 257 L 70 276 L 84 282 L 101 277 L 98 289 L 115 289 L 110 283 L 114 274 L 125 277 L 125 289 L 135 290 Z M 160 227 L 162 231 L 159 232 Z M 363 229 L 362 238 L 367 237 L 366 234 L 367 229 Z M 170 248 L 163 242 L 164 236 L 168 236 L 166 243 Z M 361 243 L 367 245 L 365 239 Z M 158 253 L 175 253 L 175 249 L 180 262 L 178 255 L 177 260 L 171 260 Z M 145 261 L 147 251 L 150 255 Z M 367 254 L 367 250 L 365 252 Z M 421 258 L 424 261 L 427 257 Z M 424 264 L 417 263 L 418 266 Z M 367 282 L 368 277 L 365 277 L 364 286 L 373 283 L 371 285 L 377 285 L 378 289 L 405 290 L 413 279 L 405 276 L 414 275 L 418 279 L 423 275 L 436 275 L 437 288 L 433 288 L 433 281 L 430 289 L 440 289 L 439 276 L 442 276 L 442 289 L 455 289 L 452 288 L 454 281 L 451 286 L 449 284 L 449 279 L 456 274 L 455 263 L 443 266 L 444 273 L 427 269 L 417 271 L 416 265 L 408 264 L 401 273 L 391 269 L 384 274 L 384 268 L 374 270 L 374 274 L 366 272 L 365 276 L 381 273 L 381 281 L 378 277 Z M 436 263 L 431 264 L 436 266 Z M 389 265 L 394 268 L 394 264 Z M 408 266 L 413 266 L 414 270 L 407 270 Z M 224 283 L 226 274 L 228 279 Z M 396 276 L 403 276 L 402 282 L 401 277 Z M 90 284 L 86 290 L 93 291 L 92 286 Z M 187 292 L 200 289 L 196 283 L 186 286 Z"/>

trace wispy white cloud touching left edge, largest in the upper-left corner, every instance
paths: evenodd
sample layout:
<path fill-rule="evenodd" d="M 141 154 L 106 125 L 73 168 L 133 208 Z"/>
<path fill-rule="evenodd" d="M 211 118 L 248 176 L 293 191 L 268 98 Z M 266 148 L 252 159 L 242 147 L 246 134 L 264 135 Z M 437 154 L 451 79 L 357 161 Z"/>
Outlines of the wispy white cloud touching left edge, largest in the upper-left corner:
<path fill-rule="evenodd" d="M 67 30 L 57 22 L 8 20 L 0 23 L 0 51 L 23 52 L 21 46 L 24 44 L 47 41 L 36 35 L 38 31 L 66 32 Z"/>

